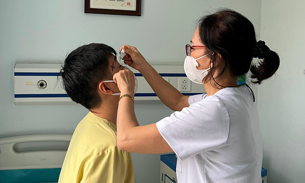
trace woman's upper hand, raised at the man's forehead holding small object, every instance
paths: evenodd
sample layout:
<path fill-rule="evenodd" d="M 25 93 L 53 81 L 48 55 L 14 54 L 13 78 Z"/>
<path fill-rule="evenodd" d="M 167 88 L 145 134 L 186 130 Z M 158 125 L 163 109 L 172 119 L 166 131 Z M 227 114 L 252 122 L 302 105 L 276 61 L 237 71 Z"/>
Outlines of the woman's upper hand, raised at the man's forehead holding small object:
<path fill-rule="evenodd" d="M 120 53 L 124 50 L 126 55 L 123 57 L 124 63 L 131 66 L 132 68 L 141 72 L 141 70 L 148 64 L 142 54 L 136 47 L 129 45 L 122 45 Z"/>

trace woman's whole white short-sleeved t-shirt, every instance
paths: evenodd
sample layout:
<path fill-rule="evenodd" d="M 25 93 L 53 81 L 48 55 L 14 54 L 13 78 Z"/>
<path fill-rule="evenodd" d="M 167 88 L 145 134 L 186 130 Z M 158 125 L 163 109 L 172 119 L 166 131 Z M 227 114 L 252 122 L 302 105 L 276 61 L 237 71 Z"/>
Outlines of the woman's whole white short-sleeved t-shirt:
<path fill-rule="evenodd" d="M 178 156 L 178 183 L 261 183 L 263 144 L 249 88 L 224 88 L 188 102 L 157 122 Z"/>

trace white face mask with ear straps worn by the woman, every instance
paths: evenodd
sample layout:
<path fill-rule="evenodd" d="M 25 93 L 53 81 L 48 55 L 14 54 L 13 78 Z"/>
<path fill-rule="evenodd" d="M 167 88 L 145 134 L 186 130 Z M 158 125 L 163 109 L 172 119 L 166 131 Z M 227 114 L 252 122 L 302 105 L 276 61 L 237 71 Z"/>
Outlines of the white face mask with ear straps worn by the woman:
<path fill-rule="evenodd" d="M 201 59 L 203 57 L 206 57 L 211 53 L 208 53 L 206 55 L 203 55 L 202 57 L 199 57 L 198 59 Z M 214 54 L 214 53 L 213 53 Z M 196 82 L 198 84 L 203 84 L 203 78 L 206 77 L 208 69 L 198 70 L 196 66 L 198 66 L 197 60 L 194 59 L 192 56 L 186 56 L 184 60 L 184 72 L 188 79 L 190 79 L 193 82 Z"/>

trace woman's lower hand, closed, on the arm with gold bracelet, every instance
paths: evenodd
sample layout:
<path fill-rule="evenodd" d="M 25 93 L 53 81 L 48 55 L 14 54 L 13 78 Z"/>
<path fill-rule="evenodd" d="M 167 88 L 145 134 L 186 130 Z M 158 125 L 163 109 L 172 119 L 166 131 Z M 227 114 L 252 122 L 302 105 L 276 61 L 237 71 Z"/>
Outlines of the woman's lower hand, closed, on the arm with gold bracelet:
<path fill-rule="evenodd" d="M 113 80 L 115 83 L 118 84 L 118 88 L 122 94 L 128 94 L 132 92 L 134 95 L 135 76 L 132 71 L 123 68 L 123 70 L 120 70 L 119 72 L 113 75 Z"/>

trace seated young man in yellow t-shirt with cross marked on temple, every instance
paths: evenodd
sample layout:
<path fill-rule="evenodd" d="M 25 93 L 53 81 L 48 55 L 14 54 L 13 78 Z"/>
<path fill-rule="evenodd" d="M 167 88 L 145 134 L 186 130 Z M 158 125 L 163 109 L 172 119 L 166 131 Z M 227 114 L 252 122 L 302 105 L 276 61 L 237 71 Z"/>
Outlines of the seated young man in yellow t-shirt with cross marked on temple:
<path fill-rule="evenodd" d="M 90 112 L 77 125 L 65 156 L 59 183 L 134 183 L 129 152 L 117 147 L 116 121 L 120 93 L 112 77 L 123 66 L 116 51 L 91 43 L 72 51 L 61 76 L 69 97 Z"/>

